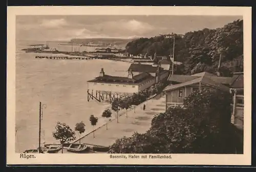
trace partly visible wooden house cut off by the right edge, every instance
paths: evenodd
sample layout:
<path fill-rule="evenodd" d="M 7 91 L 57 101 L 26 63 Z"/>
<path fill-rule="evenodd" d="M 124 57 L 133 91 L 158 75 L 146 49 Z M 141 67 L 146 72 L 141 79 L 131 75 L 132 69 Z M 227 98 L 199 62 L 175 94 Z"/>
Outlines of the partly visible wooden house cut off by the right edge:
<path fill-rule="evenodd" d="M 238 128 L 244 127 L 244 73 L 233 73 L 230 81 L 230 92 L 233 95 L 231 104 L 232 116 L 231 122 Z"/>

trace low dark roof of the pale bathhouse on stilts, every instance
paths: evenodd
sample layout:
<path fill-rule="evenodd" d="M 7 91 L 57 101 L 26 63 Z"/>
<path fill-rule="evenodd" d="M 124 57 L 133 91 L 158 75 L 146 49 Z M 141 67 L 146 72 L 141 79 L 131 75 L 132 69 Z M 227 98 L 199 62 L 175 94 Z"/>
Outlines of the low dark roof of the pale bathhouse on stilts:
<path fill-rule="evenodd" d="M 154 77 L 151 74 L 143 72 L 133 76 L 133 78 L 111 76 L 111 75 L 98 76 L 93 80 L 89 80 L 88 82 L 139 84 L 141 82 L 144 82 L 145 80 L 152 79 L 152 78 Z"/>

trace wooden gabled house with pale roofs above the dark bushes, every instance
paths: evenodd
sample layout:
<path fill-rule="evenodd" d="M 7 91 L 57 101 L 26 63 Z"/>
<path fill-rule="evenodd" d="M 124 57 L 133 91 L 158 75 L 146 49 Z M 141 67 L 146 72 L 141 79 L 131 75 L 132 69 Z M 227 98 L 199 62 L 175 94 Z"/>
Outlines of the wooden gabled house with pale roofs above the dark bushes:
<path fill-rule="evenodd" d="M 194 75 L 170 75 L 167 80 L 169 85 L 164 89 L 166 110 L 170 106 L 182 106 L 184 98 L 196 90 L 219 89 L 229 92 L 231 77 L 219 77 L 202 72 Z"/>

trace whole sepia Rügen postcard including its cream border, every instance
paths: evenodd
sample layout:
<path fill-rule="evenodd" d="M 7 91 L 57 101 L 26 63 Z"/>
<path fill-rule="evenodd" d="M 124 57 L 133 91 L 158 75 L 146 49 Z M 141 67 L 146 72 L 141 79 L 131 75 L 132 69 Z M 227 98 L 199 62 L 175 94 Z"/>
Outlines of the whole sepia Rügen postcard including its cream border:
<path fill-rule="evenodd" d="M 251 164 L 250 7 L 7 11 L 8 165 Z"/>

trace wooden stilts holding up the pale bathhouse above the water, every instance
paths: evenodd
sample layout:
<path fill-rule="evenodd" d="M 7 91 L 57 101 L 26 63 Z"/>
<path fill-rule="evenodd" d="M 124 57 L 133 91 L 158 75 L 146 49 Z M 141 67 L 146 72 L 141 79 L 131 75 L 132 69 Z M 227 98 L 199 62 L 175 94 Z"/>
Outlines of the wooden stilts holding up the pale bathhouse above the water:
<path fill-rule="evenodd" d="M 99 90 L 87 90 L 87 101 L 97 100 L 98 102 L 102 102 L 104 100 L 108 100 L 110 103 L 114 99 L 123 99 L 125 97 L 129 97 L 131 94 L 128 93 L 120 93 L 120 92 L 106 92 Z"/>

